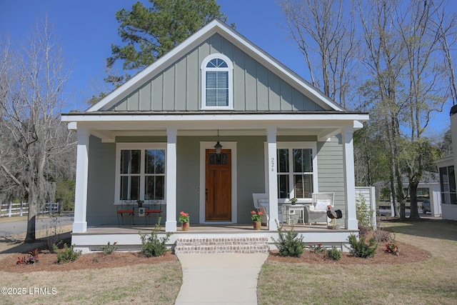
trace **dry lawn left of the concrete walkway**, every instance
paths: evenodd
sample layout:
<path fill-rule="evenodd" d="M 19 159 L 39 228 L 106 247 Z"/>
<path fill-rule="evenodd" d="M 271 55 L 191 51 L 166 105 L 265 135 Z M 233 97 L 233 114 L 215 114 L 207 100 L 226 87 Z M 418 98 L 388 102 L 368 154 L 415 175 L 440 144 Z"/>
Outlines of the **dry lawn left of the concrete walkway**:
<path fill-rule="evenodd" d="M 5 287 L 50 287 L 55 295 L 2 296 L 1 304 L 174 304 L 182 283 L 179 261 L 112 269 L 0 272 Z"/>

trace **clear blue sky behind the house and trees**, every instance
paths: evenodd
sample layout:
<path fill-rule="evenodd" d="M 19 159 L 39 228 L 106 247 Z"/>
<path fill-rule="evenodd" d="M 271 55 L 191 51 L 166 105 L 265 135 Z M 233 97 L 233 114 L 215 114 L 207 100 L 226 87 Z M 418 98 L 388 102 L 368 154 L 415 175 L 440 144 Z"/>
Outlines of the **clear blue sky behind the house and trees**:
<path fill-rule="evenodd" d="M 72 108 L 84 109 L 82 101 L 102 89 L 111 44 L 122 44 L 117 34 L 116 11 L 131 9 L 136 1 L 0 0 L 0 36 L 9 34 L 16 43 L 24 41 L 36 22 L 47 14 L 50 24 L 54 24 L 54 34 L 60 37 L 64 56 L 72 66 L 67 84 L 67 91 L 74 96 Z M 149 6 L 147 0 L 142 2 Z M 309 81 L 301 52 L 287 39 L 276 0 L 218 0 L 218 3 L 229 17 L 229 24 L 234 22 L 239 33 Z M 450 7 L 457 11 L 454 1 L 451 3 Z M 443 114 L 436 117 L 433 129 L 448 127 L 450 107 L 447 105 Z"/>

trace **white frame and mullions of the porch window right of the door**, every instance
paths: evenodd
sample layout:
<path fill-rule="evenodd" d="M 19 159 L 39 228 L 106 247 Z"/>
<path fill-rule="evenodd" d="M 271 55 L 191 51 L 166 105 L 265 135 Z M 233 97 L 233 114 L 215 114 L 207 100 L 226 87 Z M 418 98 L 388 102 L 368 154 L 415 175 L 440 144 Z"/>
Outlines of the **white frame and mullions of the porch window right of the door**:
<path fill-rule="evenodd" d="M 293 156 L 293 149 L 311 149 L 311 154 L 313 154 L 311 162 L 313 164 L 313 171 L 311 175 L 313 189 L 311 193 L 316 193 L 318 190 L 318 168 L 317 168 L 317 146 L 316 143 L 306 143 L 306 142 L 278 142 L 276 144 L 276 156 L 279 149 L 288 149 L 289 164 L 288 164 L 288 186 L 289 186 L 289 196 L 295 195 L 295 187 L 293 176 L 297 173 L 293 171 L 293 159 L 290 157 Z M 279 166 L 279 160 L 276 160 L 277 166 Z M 280 175 L 280 172 L 276 168 L 276 177 Z M 283 175 L 283 174 L 282 174 Z M 278 184 L 278 178 L 276 178 L 276 184 Z M 293 198 L 293 197 L 291 197 Z M 309 204 L 311 203 L 312 198 L 300 198 L 298 199 L 298 204 Z M 288 198 L 278 198 L 278 204 L 289 204 Z"/>

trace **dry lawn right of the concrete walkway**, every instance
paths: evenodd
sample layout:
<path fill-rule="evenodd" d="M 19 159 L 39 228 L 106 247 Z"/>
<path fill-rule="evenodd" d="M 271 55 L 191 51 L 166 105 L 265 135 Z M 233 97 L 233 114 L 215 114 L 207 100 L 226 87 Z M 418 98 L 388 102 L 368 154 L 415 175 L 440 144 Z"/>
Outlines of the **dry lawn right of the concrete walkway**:
<path fill-rule="evenodd" d="M 267 261 L 258 279 L 258 304 L 456 304 L 457 222 L 381 225 L 431 259 L 368 266 Z"/>

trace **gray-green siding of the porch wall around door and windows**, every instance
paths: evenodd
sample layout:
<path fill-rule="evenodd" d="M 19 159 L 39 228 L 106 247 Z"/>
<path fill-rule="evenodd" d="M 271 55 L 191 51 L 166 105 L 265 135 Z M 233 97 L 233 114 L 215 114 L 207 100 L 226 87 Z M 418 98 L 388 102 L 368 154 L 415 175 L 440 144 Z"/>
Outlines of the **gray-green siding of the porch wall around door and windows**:
<path fill-rule="evenodd" d="M 278 136 L 278 141 L 315 142 L 316 136 Z M 200 141 L 214 141 L 211 136 L 178 136 L 176 211 L 191 214 L 192 222 L 199 222 Z M 264 192 L 265 136 L 227 136 L 224 141 L 236 142 L 237 149 L 237 217 L 238 223 L 249 223 L 253 209 L 252 193 Z M 116 137 L 116 143 L 166 142 L 164 136 Z M 116 143 L 104 143 L 90 137 L 87 224 L 117 224 L 114 206 Z M 343 151 L 341 136 L 331 141 L 317 142 L 319 191 L 335 192 L 336 208 L 344 212 Z M 166 206 L 163 207 L 166 211 Z M 178 217 L 178 215 L 176 215 Z M 162 214 L 162 223 L 166 214 Z M 141 219 L 144 221 L 144 219 Z"/>

